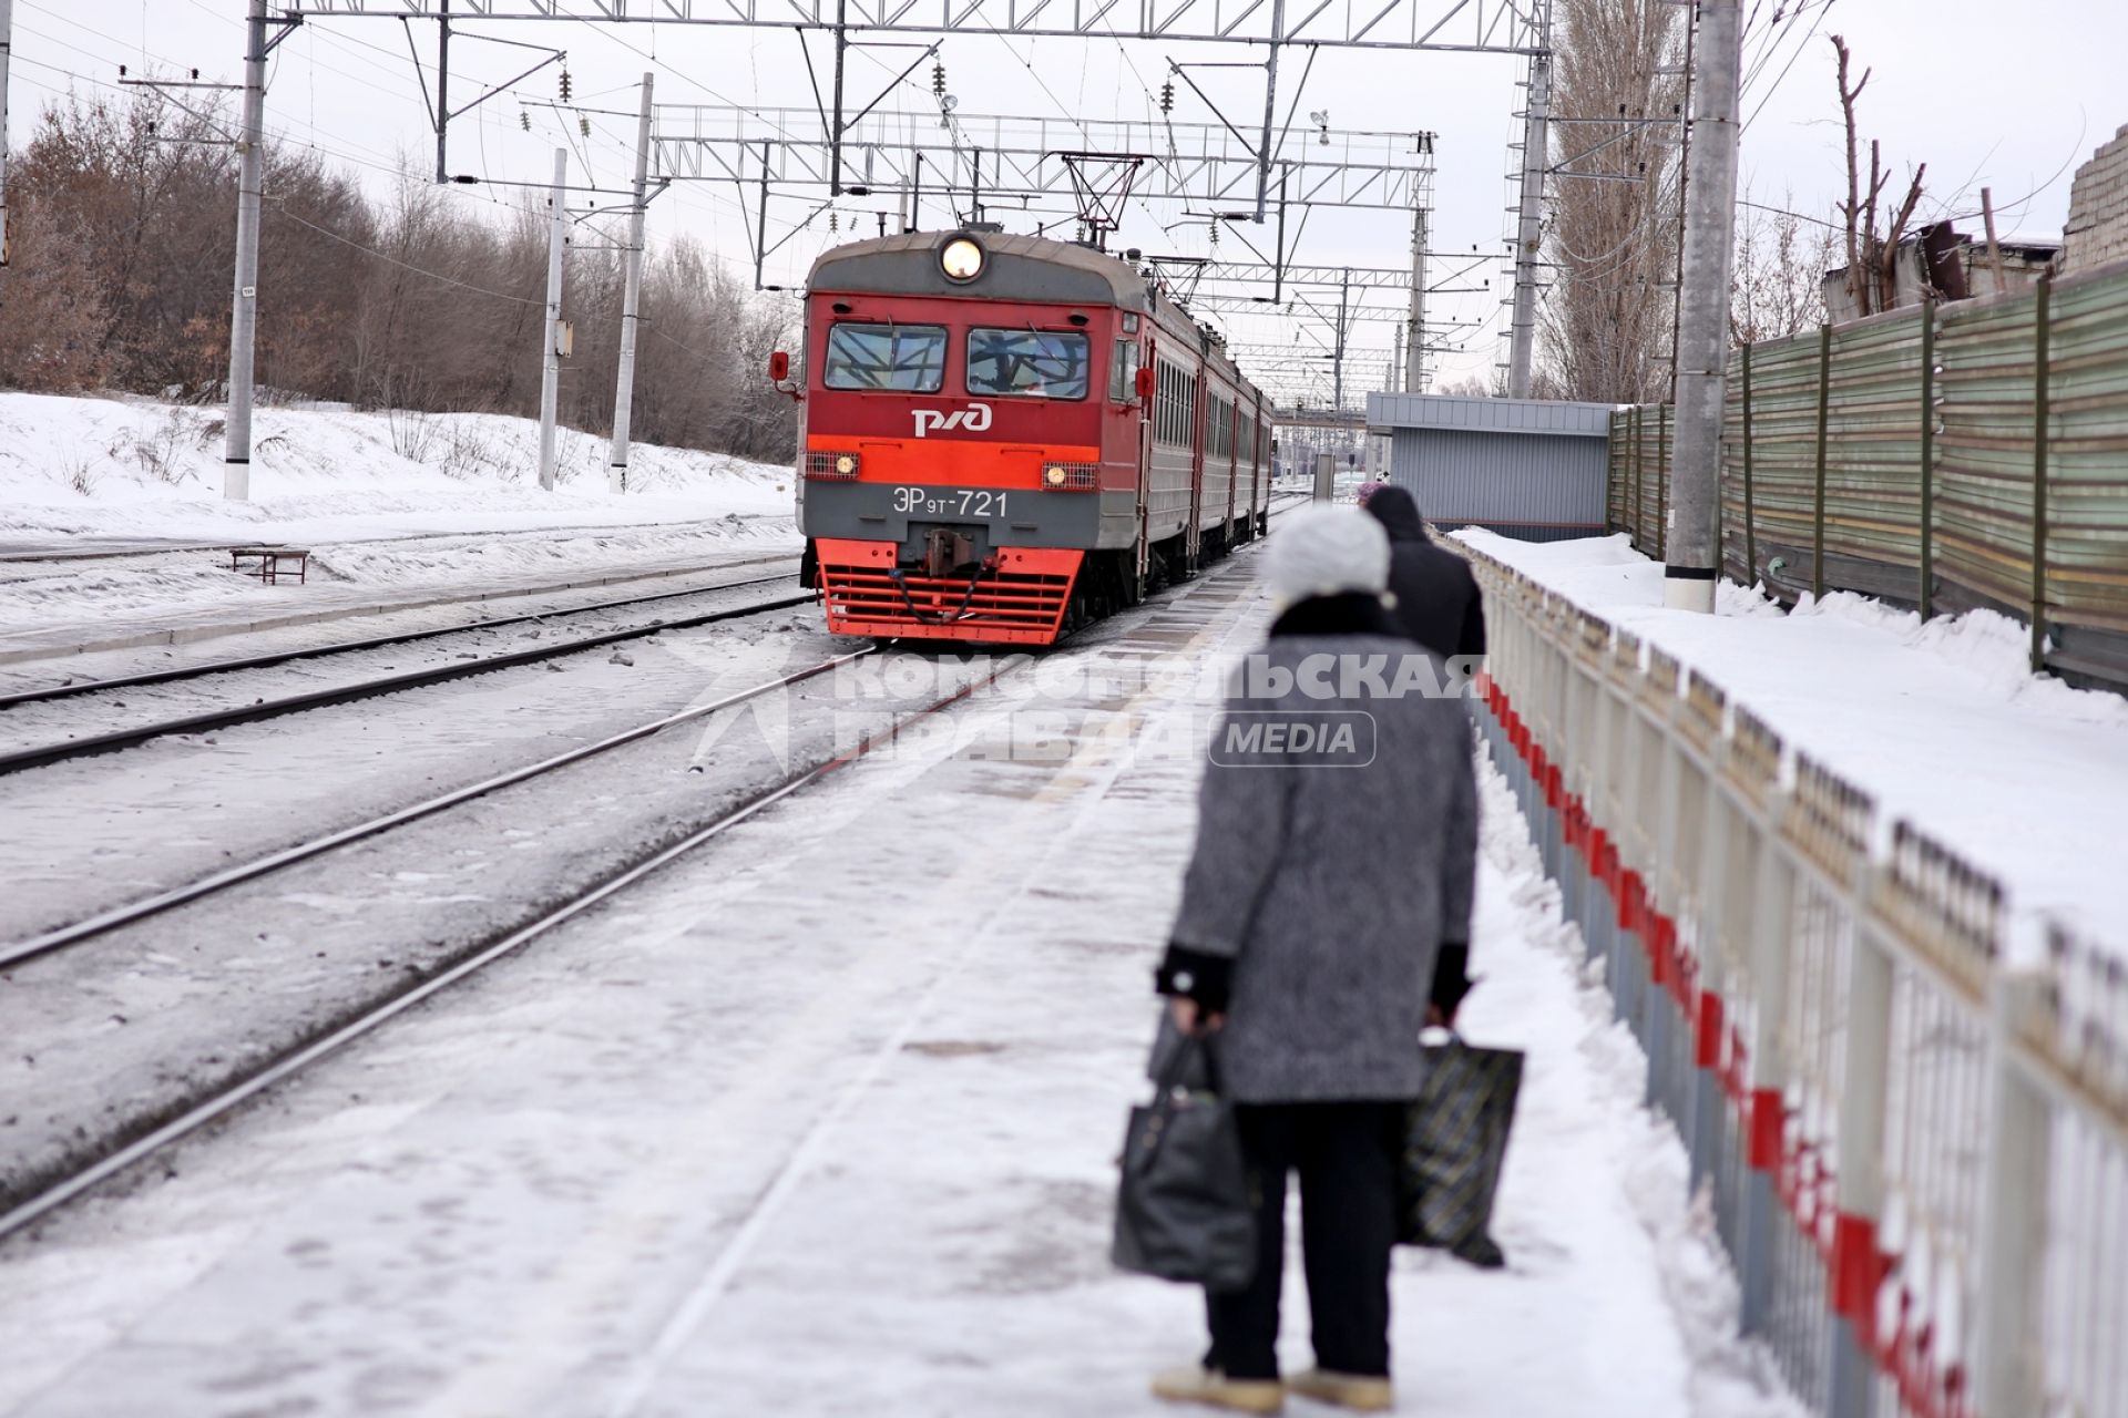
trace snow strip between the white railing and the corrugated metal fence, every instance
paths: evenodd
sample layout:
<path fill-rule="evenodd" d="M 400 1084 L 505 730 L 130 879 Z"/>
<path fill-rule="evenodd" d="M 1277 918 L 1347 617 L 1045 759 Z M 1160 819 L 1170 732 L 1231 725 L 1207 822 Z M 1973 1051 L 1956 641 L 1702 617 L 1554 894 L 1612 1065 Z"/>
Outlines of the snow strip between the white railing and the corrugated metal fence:
<path fill-rule="evenodd" d="M 1662 646 L 2009 891 L 2013 942 L 2049 912 L 2128 952 L 2128 699 L 2034 676 L 2028 631 L 1975 610 L 1928 625 L 1860 595 L 1773 602 L 1722 585 L 1722 614 L 1662 606 L 1662 563 L 1624 536 L 1513 542 L 1458 531 Z"/>

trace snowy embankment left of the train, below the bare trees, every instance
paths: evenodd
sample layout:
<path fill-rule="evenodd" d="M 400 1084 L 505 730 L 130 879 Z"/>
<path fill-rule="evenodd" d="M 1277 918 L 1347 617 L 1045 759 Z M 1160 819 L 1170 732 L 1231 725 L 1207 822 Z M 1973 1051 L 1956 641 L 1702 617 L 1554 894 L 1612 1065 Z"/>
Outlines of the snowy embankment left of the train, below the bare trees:
<path fill-rule="evenodd" d="M 798 548 L 792 470 L 636 444 L 606 491 L 606 440 L 506 415 L 262 408 L 251 497 L 221 495 L 221 410 L 0 393 L 0 634 L 334 600 L 532 587 Z M 215 546 L 313 553 L 304 587 L 236 576 Z M 138 555 L 26 561 L 28 555 Z M 319 585 L 323 583 L 323 585 Z"/>

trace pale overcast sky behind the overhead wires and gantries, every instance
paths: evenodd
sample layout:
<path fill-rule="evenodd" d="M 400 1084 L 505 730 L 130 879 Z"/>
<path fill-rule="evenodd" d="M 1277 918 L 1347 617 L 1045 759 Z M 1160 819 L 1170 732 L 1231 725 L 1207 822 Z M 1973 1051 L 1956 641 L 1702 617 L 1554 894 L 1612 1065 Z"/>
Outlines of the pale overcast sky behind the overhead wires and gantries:
<path fill-rule="evenodd" d="M 38 108 L 68 85 L 94 91 L 111 85 L 117 66 L 157 64 L 200 68 L 202 79 L 234 77 L 243 43 L 240 0 L 15 0 L 15 91 L 9 132 L 30 136 Z M 1445 6 L 1443 6 L 1445 9 Z M 2098 142 L 2128 123 L 2128 87 L 2119 62 L 2128 53 L 2128 2 L 2028 0 L 1745 0 L 1756 15 L 1747 36 L 1747 66 L 1775 43 L 1747 89 L 1756 113 L 1743 142 L 1749 196 L 1811 215 L 1830 215 L 1845 189 L 1839 104 L 1832 83 L 1832 47 L 1826 34 L 1845 34 L 1858 62 L 1875 70 L 1862 98 L 1866 136 L 1883 140 L 1896 172 L 1928 162 L 1924 215 L 1966 215 L 1990 185 L 2005 213 L 2005 230 L 2034 238 L 2060 234 L 2068 210 L 2068 181 Z M 1779 26 L 1770 26 L 1773 15 Z M 1794 17 L 1792 17 L 1794 15 Z M 1815 34 L 1811 34 L 1815 28 Z M 660 102 L 811 102 L 798 40 L 789 32 L 702 30 L 683 26 L 466 26 L 453 45 L 453 100 L 470 98 L 475 79 L 500 81 L 523 68 L 523 51 L 483 45 L 477 32 L 568 49 L 575 100 L 589 106 L 632 108 L 634 83 L 645 68 L 658 72 Z M 1809 40 L 1805 43 L 1805 38 Z M 423 60 L 434 55 L 434 26 L 415 26 Z M 651 57 L 655 55 L 655 57 Z M 815 36 L 815 57 L 826 47 Z M 909 51 L 855 51 L 849 89 L 870 98 L 913 57 Z M 996 40 L 949 36 L 945 66 L 962 113 L 1024 113 L 1030 117 L 1145 117 L 1166 60 L 1251 60 L 1241 45 L 1092 43 L 1073 38 Z M 1292 79 L 1296 64 L 1287 64 Z M 138 72 L 138 70 L 136 70 Z M 74 74 L 74 77 L 70 77 Z M 1498 255 L 1504 206 L 1511 193 L 1509 117 L 1519 102 L 1519 62 L 1494 55 L 1356 53 L 1326 49 L 1315 62 L 1300 113 L 1328 108 L 1332 128 L 1434 130 L 1439 179 L 1434 185 L 1434 249 Z M 77 79 L 79 77 L 79 79 Z M 1262 113 L 1260 74 L 1226 70 L 1204 74 L 1213 98 L 1234 115 Z M 626 185 L 634 123 L 594 117 L 592 138 L 562 123 L 551 111 L 519 102 L 555 96 L 553 70 L 530 79 L 453 125 L 451 166 L 487 179 L 545 181 L 551 151 L 568 138 L 575 172 L 602 185 Z M 1281 111 L 1285 100 L 1281 98 Z M 928 66 L 896 89 L 885 111 L 934 117 Z M 521 130 L 521 117 L 534 132 Z M 1213 121 L 1187 89 L 1177 119 Z M 1304 117 L 1300 119 L 1304 123 Z M 275 64 L 268 125 L 292 140 L 313 142 L 383 189 L 404 153 L 417 172 L 430 164 L 432 138 L 421 106 L 406 36 L 398 21 L 323 19 L 304 26 L 281 47 Z M 1898 179 L 1902 181 L 1902 179 Z M 468 206 L 515 200 L 509 187 L 455 189 Z M 483 196 L 485 193 L 485 196 Z M 851 200 L 838 225 L 853 219 L 872 230 L 879 202 Z M 809 208 L 800 198 L 777 202 L 770 240 L 792 230 Z M 1011 223 L 1009 213 L 992 213 Z M 1183 255 L 1207 253 L 1202 225 L 1162 230 L 1179 213 L 1134 206 L 1121 244 Z M 928 213 L 943 221 L 943 208 Z M 738 196 L 730 185 L 683 183 L 653 206 L 655 238 L 692 234 L 734 270 L 747 264 L 747 236 Z M 1268 247 L 1268 232 L 1247 232 Z M 1298 259 L 1396 266 L 1407 259 L 1407 219 L 1394 213 L 1319 213 L 1307 227 Z M 826 217 L 794 236 L 768 264 L 768 281 L 796 285 L 813 255 L 830 244 Z M 1224 238 L 1221 253 L 1245 255 Z M 1436 264 L 1436 278 L 1451 274 Z M 1473 270 L 1460 287 L 1492 281 L 1492 289 L 1441 296 L 1430 317 L 1468 321 L 1451 340 L 1462 353 L 1434 361 L 1441 378 L 1485 374 L 1498 357 L 1502 274 L 1498 261 Z M 1230 336 L 1251 344 L 1294 344 L 1294 327 L 1268 317 L 1228 319 Z M 1309 344 L 1309 336 L 1300 336 Z M 1390 325 L 1362 325 L 1358 349 L 1385 349 Z M 1379 378 L 1373 368 L 1351 374 L 1362 385 Z"/>

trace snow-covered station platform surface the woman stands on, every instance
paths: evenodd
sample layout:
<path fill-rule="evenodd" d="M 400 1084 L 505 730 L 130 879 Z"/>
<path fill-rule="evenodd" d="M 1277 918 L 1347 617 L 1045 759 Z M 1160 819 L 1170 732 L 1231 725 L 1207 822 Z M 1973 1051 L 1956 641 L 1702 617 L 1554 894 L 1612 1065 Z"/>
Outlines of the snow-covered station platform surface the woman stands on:
<path fill-rule="evenodd" d="M 1264 619 L 1207 578 L 1113 623 L 1102 651 L 1181 672 L 1117 693 L 1055 655 L 1047 699 L 902 736 L 13 1246 L 0 1409 L 1170 1412 L 1145 1380 L 1202 1307 L 1109 1267 L 1113 1159 L 1187 729 Z M 1407 1412 L 1792 1414 L 1492 774 L 1483 801 L 1464 1023 L 1530 1050 L 1511 1267 L 1400 1254 Z"/>

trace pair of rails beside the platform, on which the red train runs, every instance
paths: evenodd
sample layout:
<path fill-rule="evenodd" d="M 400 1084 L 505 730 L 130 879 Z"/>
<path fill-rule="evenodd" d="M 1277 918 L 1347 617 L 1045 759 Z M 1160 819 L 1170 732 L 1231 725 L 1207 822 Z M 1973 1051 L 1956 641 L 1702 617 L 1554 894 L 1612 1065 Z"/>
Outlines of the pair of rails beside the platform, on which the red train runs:
<path fill-rule="evenodd" d="M 1226 568 L 1213 572 L 1213 578 L 1232 574 L 1234 570 L 1243 568 L 1247 568 L 1247 559 L 1228 561 Z M 1202 585 L 1202 580 L 1190 585 Z M 1177 591 L 1158 593 L 1149 597 L 1149 604 L 1158 604 L 1187 589 L 1190 587 L 1185 585 L 1177 587 Z M 864 646 L 858 651 L 849 651 L 845 655 L 824 659 L 792 674 L 783 674 L 772 680 L 764 680 L 760 685 L 743 689 L 738 693 L 726 695 L 713 704 L 702 704 L 689 710 L 681 710 L 677 714 L 666 714 L 662 719 L 638 725 L 624 733 L 615 733 L 596 744 L 585 744 L 581 748 L 572 748 L 568 753 L 543 759 L 538 763 L 511 770 L 506 774 L 498 774 L 483 782 L 453 789 L 449 793 L 440 793 L 409 808 L 375 816 L 366 823 L 358 823 L 353 827 L 345 827 L 319 835 L 315 840 L 257 857 L 249 863 L 226 867 L 221 872 L 202 876 L 194 882 L 157 893 L 153 897 L 121 908 L 113 908 L 106 912 L 98 912 L 96 916 L 77 921 L 68 927 L 60 927 L 53 931 L 45 931 L 43 935 L 34 935 L 30 940 L 19 940 L 0 946 L 0 969 L 13 969 L 32 959 L 49 957 L 57 950 L 66 950 L 68 946 L 94 940 L 98 935 L 104 935 L 109 931 L 128 925 L 143 925 L 162 918 L 170 912 L 183 910 L 189 904 L 217 897 L 223 891 L 230 891 L 243 882 L 257 880 L 272 872 L 289 867 L 298 861 L 309 861 L 313 857 L 338 850 L 343 846 L 351 846 L 355 842 L 389 833 L 396 827 L 432 818 L 436 814 L 449 812 L 460 804 L 494 795 L 513 784 L 549 776 L 568 765 L 583 763 L 598 755 L 611 753 L 624 744 L 647 740 L 675 725 L 704 719 L 719 710 L 741 706 L 749 699 L 758 699 L 777 689 L 785 689 L 817 678 L 821 674 L 836 670 L 838 665 L 877 653 L 881 653 L 881 646 Z M 779 804 L 785 797 L 792 797 L 794 793 L 800 793 L 802 789 L 834 774 L 836 770 L 855 763 L 864 755 L 872 753 L 877 746 L 890 744 L 896 736 L 911 729 L 913 725 L 949 710 L 951 706 L 964 702 L 968 695 L 994 685 L 996 680 L 1004 678 L 1007 674 L 1013 674 L 1015 670 L 1028 663 L 1032 663 L 1032 659 L 1024 655 L 1004 659 L 987 674 L 979 674 L 968 682 L 951 689 L 949 693 L 930 699 L 928 704 L 892 714 L 885 727 L 872 729 L 855 746 L 821 753 L 809 763 L 794 765 L 792 770 L 781 774 L 779 780 L 772 782 L 770 787 L 747 793 L 736 806 L 721 810 L 711 821 L 687 827 L 683 835 L 679 835 L 677 840 L 668 840 L 662 846 L 641 850 L 634 859 L 619 863 L 615 870 L 611 870 L 589 887 L 575 891 L 566 901 L 560 901 L 551 908 L 543 908 L 530 921 L 515 921 L 496 927 L 489 935 L 470 942 L 453 959 L 443 961 L 432 974 L 415 978 L 402 986 L 392 989 L 387 995 L 379 999 L 360 1003 L 353 1010 L 345 1012 L 343 1016 L 321 1023 L 306 1037 L 294 1040 L 285 1048 L 272 1052 L 270 1057 L 257 1059 L 255 1065 L 243 1071 L 240 1076 L 228 1080 L 226 1084 L 217 1084 L 202 1097 L 189 1099 L 187 1103 L 183 1103 L 181 1110 L 172 1110 L 174 1116 L 166 1114 L 157 1118 L 143 1118 L 138 1127 L 113 1135 L 109 1140 L 106 1150 L 100 1150 L 87 1161 L 74 1157 L 60 1174 L 47 1171 L 40 1176 L 19 1178 L 11 1188 L 11 1195 L 0 1199 L 0 1205 L 6 1205 L 6 1210 L 0 1212 L 0 1237 L 26 1231 L 28 1227 L 36 1225 L 45 1216 L 51 1216 L 55 1210 L 64 1208 L 77 1197 L 102 1186 L 104 1182 L 111 1182 L 113 1178 L 136 1167 L 140 1161 L 155 1157 L 157 1152 L 170 1148 L 172 1144 L 232 1114 L 260 1093 L 277 1086 L 279 1082 L 285 1082 L 287 1078 L 338 1052 L 340 1048 L 353 1044 L 355 1040 L 372 1033 L 392 1018 L 413 1010 L 415 1006 L 449 989 L 451 984 L 458 984 L 468 976 L 481 972 L 483 967 L 517 952 L 526 944 L 553 931 L 562 923 L 611 899 L 615 893 L 626 891 L 630 884 L 643 880 L 645 876 L 651 876 L 653 872 L 685 857 L 687 853 L 698 850 L 700 846 L 713 842 L 715 838 L 724 835 L 726 831 L 745 823 L 747 818 L 760 814 L 772 804 Z"/>

